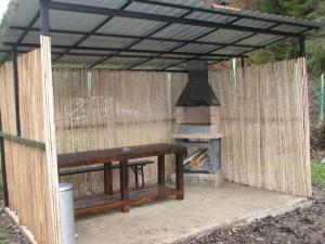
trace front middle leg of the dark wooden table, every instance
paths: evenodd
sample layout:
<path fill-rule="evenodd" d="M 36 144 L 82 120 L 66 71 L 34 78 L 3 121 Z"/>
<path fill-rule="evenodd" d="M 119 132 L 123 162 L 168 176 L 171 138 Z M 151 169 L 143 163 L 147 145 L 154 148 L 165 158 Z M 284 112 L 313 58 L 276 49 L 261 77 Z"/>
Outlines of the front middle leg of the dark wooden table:
<path fill-rule="evenodd" d="M 121 211 L 126 213 L 129 211 L 130 205 L 129 201 L 129 168 L 128 168 L 128 160 L 119 162 L 120 165 L 120 198 L 121 201 L 126 202 L 122 205 Z"/>

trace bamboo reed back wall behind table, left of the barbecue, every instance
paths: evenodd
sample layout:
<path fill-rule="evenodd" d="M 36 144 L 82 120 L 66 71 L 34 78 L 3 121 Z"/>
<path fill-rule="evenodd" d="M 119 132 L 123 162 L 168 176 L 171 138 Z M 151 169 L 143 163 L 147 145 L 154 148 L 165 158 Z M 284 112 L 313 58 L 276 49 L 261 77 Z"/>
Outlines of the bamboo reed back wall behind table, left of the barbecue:
<path fill-rule="evenodd" d="M 53 79 L 58 153 L 173 141 L 167 73 L 54 69 Z M 170 160 L 168 156 L 167 176 L 172 172 Z M 61 181 L 73 182 L 76 195 L 103 192 L 103 172 Z M 157 165 L 146 166 L 145 182 L 156 181 Z M 115 170 L 114 189 L 118 187 Z"/>

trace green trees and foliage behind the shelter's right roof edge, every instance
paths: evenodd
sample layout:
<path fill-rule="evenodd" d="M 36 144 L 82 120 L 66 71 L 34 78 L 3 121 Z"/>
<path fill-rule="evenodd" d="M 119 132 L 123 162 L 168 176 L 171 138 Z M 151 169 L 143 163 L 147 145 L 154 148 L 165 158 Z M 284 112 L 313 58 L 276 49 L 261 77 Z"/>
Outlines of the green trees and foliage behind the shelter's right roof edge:
<path fill-rule="evenodd" d="M 258 0 L 261 12 L 313 20 L 321 30 L 307 36 L 307 56 L 310 74 L 318 77 L 325 72 L 325 0 Z M 298 40 L 289 39 L 252 54 L 255 64 L 294 59 L 299 54 Z"/>

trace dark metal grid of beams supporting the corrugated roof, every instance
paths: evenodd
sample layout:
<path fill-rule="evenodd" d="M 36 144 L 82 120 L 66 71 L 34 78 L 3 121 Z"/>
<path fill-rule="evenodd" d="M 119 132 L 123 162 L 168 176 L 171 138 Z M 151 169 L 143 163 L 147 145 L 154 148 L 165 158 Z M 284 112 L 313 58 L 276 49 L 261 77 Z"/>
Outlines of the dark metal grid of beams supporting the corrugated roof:
<path fill-rule="evenodd" d="M 42 0 L 41 0 L 42 1 Z M 138 67 L 141 67 L 141 65 L 154 61 L 155 59 L 158 60 L 174 60 L 176 62 L 172 64 L 165 65 L 159 70 L 168 70 L 170 68 L 174 68 L 180 64 L 186 63 L 191 60 L 207 60 L 212 63 L 214 62 L 222 62 L 225 60 L 229 60 L 231 57 L 243 57 L 246 56 L 248 52 L 265 48 L 266 46 L 280 42 L 287 38 L 298 38 L 300 43 L 300 50 L 301 54 L 304 53 L 304 37 L 303 34 L 306 31 L 309 31 L 311 29 L 317 29 L 318 26 L 314 23 L 303 21 L 303 20 L 297 20 L 297 18 L 290 18 L 290 17 L 283 17 L 278 15 L 270 15 L 270 14 L 257 14 L 256 12 L 239 12 L 239 13 L 233 13 L 233 12 L 222 12 L 217 11 L 214 9 L 210 9 L 209 5 L 205 5 L 205 8 L 200 7 L 193 7 L 193 5 L 183 5 L 183 4 L 177 4 L 174 2 L 170 2 L 168 0 L 127 0 L 119 9 L 109 9 L 109 8 L 102 8 L 102 7 L 94 7 L 90 4 L 77 4 L 77 3 L 69 3 L 64 2 L 64 0 L 54 1 L 54 0 L 47 0 L 49 10 L 55 10 L 55 11 L 64 11 L 64 12 L 72 12 L 72 13 L 87 13 L 87 14 L 94 14 L 100 16 L 107 16 L 104 20 L 102 20 L 99 24 L 94 25 L 93 28 L 90 31 L 79 31 L 79 30 L 66 30 L 66 29 L 50 29 L 53 34 L 68 34 L 68 35 L 79 35 L 81 36 L 75 43 L 66 46 L 66 44 L 52 44 L 53 49 L 60 49 L 63 50 L 61 52 L 53 51 L 53 62 L 58 62 L 65 55 L 84 55 L 84 56 L 93 56 L 99 57 L 95 62 L 93 62 L 91 65 L 88 65 L 88 68 L 94 68 L 98 65 L 101 65 L 104 62 L 109 61 L 109 59 L 113 57 L 142 57 L 143 60 L 139 61 L 138 63 L 134 63 L 132 65 L 128 64 L 127 66 L 123 66 L 123 69 L 135 69 Z M 177 10 L 182 10 L 183 13 L 179 16 L 170 16 L 170 15 L 162 15 L 159 13 L 144 13 L 144 12 L 136 12 L 136 11 L 130 11 L 128 10 L 128 7 L 130 7 L 132 3 L 143 3 L 143 4 L 150 4 L 154 7 L 160 7 L 160 8 L 172 8 Z M 192 14 L 216 14 L 220 16 L 230 16 L 232 17 L 231 21 L 226 23 L 221 22 L 213 22 L 213 21 L 207 21 L 207 20 L 195 20 L 191 17 Z M 36 43 L 24 43 L 25 37 L 28 35 L 29 31 L 40 31 L 40 28 L 35 27 L 35 23 L 39 20 L 39 12 L 34 16 L 32 20 L 28 23 L 27 26 L 15 26 L 12 25 L 9 27 L 10 30 L 22 30 L 21 37 L 13 42 L 3 42 L 4 46 L 11 47 L 11 49 L 15 49 L 16 52 L 25 52 L 24 50 L 20 50 L 20 48 L 37 48 L 39 44 Z M 155 21 L 162 23 L 161 26 L 158 28 L 153 29 L 148 34 L 144 36 L 135 36 L 135 35 L 120 35 L 120 34 L 108 34 L 108 33 L 101 33 L 101 27 L 105 26 L 109 21 L 112 21 L 114 17 L 127 17 L 127 18 L 133 18 L 133 20 L 143 20 L 143 21 Z M 255 26 L 247 26 L 247 25 L 240 25 L 237 23 L 240 23 L 242 21 L 255 21 L 260 23 L 268 23 L 269 27 L 262 28 L 262 27 L 255 27 Z M 41 23 L 42 24 L 42 23 Z M 177 39 L 177 38 L 170 38 L 170 37 L 156 37 L 155 34 L 165 30 L 169 26 L 173 24 L 179 25 L 186 25 L 186 26 L 194 26 L 194 27 L 203 27 L 208 28 L 207 31 L 200 34 L 199 36 L 196 36 L 192 39 Z M 288 25 L 292 28 L 300 28 L 299 31 L 284 31 L 276 29 L 278 26 Z M 240 33 L 247 33 L 242 38 L 237 38 L 234 41 L 230 42 L 218 42 L 218 41 L 206 41 L 203 40 L 205 37 L 207 37 L 210 34 L 213 34 L 218 30 L 233 30 L 233 31 L 240 31 Z M 271 37 L 276 37 L 276 40 L 269 41 L 268 43 L 263 44 L 249 44 L 249 43 L 240 43 L 242 41 L 245 41 L 246 39 L 249 39 L 257 35 L 270 35 Z M 107 38 L 120 38 L 126 40 L 131 40 L 130 43 L 128 43 L 126 47 L 122 48 L 100 48 L 100 47 L 88 47 L 82 46 L 82 42 L 86 41 L 90 37 L 107 37 Z M 150 41 L 165 41 L 172 43 L 172 47 L 168 50 L 143 50 L 143 49 L 135 49 L 136 44 L 141 43 L 144 40 Z M 205 52 L 196 52 L 196 51 L 179 51 L 180 49 L 184 49 L 188 46 L 200 46 L 200 47 L 208 47 Z M 213 48 L 214 46 L 214 48 Z M 238 53 L 233 54 L 218 54 L 214 53 L 219 50 L 223 50 L 225 48 L 237 48 L 242 49 Z M 194 49 L 194 48 L 193 48 Z M 186 49 L 185 49 L 186 50 Z M 194 49 L 195 50 L 195 49 Z M 1 52 L 10 52 L 11 50 L 0 50 Z M 87 53 L 78 52 L 78 51 L 90 51 Z M 91 52 L 93 51 L 93 53 Z M 99 53 L 99 52 L 109 52 L 107 54 Z M 128 55 L 123 54 L 123 52 L 130 53 Z M 11 53 L 9 53 L 10 55 Z M 8 59 L 6 55 L 3 60 Z M 174 55 L 174 56 L 164 56 L 164 55 Z M 179 57 L 177 56 L 179 55 Z"/>

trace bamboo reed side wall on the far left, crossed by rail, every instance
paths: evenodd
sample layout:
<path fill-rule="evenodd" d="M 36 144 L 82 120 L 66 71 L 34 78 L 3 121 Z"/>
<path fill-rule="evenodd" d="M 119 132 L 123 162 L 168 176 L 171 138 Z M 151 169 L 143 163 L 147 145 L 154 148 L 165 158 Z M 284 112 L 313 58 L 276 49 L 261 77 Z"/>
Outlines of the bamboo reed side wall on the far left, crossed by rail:
<path fill-rule="evenodd" d="M 40 50 L 21 55 L 18 91 L 22 137 L 44 141 L 43 88 Z M 3 132 L 16 134 L 14 78 L 12 63 L 0 67 L 0 111 Z M 10 209 L 38 243 L 58 244 L 57 195 L 52 185 L 43 149 L 4 140 Z M 57 184 L 57 182 L 56 182 Z"/>

